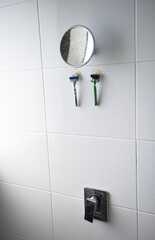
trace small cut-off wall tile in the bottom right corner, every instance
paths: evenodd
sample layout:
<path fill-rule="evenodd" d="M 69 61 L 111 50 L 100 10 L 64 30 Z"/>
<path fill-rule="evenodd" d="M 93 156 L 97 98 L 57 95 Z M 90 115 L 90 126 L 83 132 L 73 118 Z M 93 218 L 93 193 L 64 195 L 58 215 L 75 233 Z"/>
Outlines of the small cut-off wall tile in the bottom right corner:
<path fill-rule="evenodd" d="M 139 213 L 139 240 L 154 240 L 155 215 Z"/>

